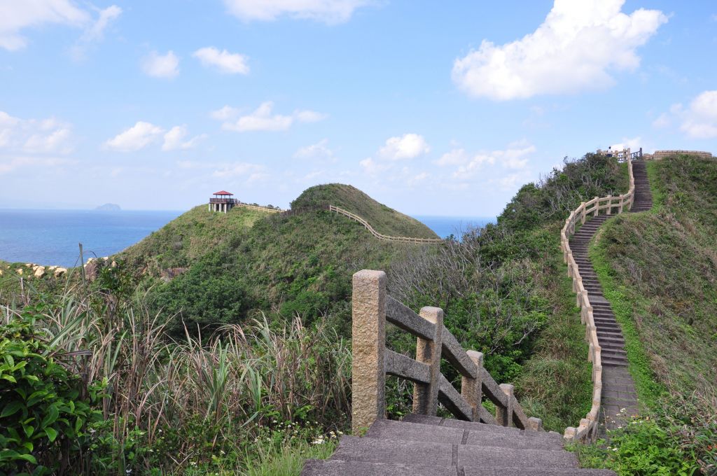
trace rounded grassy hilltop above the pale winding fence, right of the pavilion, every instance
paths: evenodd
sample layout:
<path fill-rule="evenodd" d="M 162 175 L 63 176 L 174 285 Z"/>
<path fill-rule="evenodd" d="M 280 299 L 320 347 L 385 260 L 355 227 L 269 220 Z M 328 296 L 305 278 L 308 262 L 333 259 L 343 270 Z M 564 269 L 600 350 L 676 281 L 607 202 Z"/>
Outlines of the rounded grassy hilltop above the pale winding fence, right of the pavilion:
<path fill-rule="evenodd" d="M 291 202 L 293 209 L 328 205 L 336 205 L 361 216 L 382 234 L 394 237 L 438 238 L 437 234 L 417 219 L 379 204 L 351 185 L 313 186 Z"/>

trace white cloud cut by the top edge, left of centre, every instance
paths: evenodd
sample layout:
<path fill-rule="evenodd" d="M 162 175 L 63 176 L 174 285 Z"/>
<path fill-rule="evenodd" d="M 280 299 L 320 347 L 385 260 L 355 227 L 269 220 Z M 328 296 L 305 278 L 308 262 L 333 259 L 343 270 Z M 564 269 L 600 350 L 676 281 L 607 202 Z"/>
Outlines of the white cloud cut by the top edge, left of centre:
<path fill-rule="evenodd" d="M 370 0 L 224 0 L 229 13 L 244 21 L 274 20 L 280 16 L 336 24 Z"/>

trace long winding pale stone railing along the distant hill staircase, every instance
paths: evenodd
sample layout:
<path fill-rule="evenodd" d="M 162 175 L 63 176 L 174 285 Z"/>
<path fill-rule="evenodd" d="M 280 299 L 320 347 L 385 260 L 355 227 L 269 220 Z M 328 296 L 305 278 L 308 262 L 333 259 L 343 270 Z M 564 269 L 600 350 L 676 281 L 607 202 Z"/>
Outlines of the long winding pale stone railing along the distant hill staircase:
<path fill-rule="evenodd" d="M 577 296 L 576 304 L 580 308 L 580 320 L 585 325 L 585 337 L 589 344 L 588 360 L 592 362 L 593 383 L 592 407 L 587 416 L 580 420 L 577 428 L 568 427 L 565 429 L 564 438 L 568 441 L 593 441 L 597 437 L 602 399 L 602 360 L 600 358 L 600 344 L 597 340 L 597 328 L 592 315 L 592 305 L 590 305 L 587 290 L 583 286 L 578 265 L 573 258 L 569 239 L 575 233 L 576 224 L 578 222 L 584 224 L 587 216 L 591 214 L 597 216 L 601 210 L 604 210 L 605 214 L 608 215 L 613 212 L 620 214 L 632 208 L 632 203 L 635 201 L 635 176 L 632 175 L 632 161 L 627 160 L 627 158 L 635 158 L 637 155 L 636 153 L 630 153 L 630 149 L 625 149 L 617 157 L 627 161 L 627 173 L 630 176 L 630 189 L 627 194 L 602 198 L 596 196 L 590 201 L 582 202 L 575 211 L 571 211 L 570 216 L 565 220 L 565 226 L 560 232 L 560 248 L 563 252 L 564 261 L 568 265 L 568 275 L 573 278 L 573 291 Z"/>

